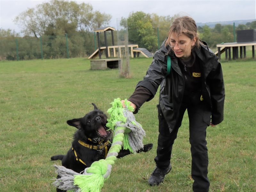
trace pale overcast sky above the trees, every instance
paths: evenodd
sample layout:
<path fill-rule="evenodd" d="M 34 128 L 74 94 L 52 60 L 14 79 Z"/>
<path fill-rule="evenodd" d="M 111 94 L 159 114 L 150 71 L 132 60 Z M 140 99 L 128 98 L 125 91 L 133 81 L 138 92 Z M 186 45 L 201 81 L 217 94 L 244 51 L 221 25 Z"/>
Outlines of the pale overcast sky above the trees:
<path fill-rule="evenodd" d="M 41 0 L 0 0 L 0 28 L 11 28 L 20 32 L 19 26 L 15 25 L 13 19 L 28 8 L 42 4 Z M 190 0 L 190 1 L 76 1 L 77 3 L 90 3 L 93 10 L 105 12 L 112 15 L 110 26 L 116 27 L 116 19 L 128 17 L 130 12 L 143 11 L 145 13 L 156 13 L 157 15 L 170 15 L 182 12 L 195 19 L 196 22 L 215 22 L 231 20 L 256 19 L 255 0 Z"/>

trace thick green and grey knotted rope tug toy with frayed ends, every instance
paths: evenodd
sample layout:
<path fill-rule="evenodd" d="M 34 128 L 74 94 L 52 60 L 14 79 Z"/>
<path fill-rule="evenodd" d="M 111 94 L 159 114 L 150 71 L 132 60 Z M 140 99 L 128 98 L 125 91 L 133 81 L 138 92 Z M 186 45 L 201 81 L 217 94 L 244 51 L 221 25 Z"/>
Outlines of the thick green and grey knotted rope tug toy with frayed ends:
<path fill-rule="evenodd" d="M 112 146 L 109 149 L 106 159 L 100 159 L 87 167 L 83 174 L 74 172 L 64 166 L 54 165 L 56 172 L 61 176 L 52 183 L 62 190 L 73 192 L 100 192 L 104 180 L 107 180 L 111 173 L 112 165 L 115 164 L 116 156 L 120 149 L 129 149 L 131 153 L 143 148 L 142 139 L 146 135 L 141 125 L 135 120 L 134 108 L 130 101 L 125 99 L 123 107 L 119 98 L 115 99 L 112 107 L 108 109 L 110 118 L 107 127 L 113 130 L 115 135 Z"/>

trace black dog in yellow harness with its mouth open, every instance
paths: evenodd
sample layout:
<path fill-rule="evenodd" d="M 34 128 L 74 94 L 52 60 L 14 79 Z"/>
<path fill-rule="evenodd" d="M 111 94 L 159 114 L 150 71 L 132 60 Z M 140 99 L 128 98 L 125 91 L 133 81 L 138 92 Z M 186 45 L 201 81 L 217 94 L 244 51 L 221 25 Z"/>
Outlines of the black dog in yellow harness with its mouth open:
<path fill-rule="evenodd" d="M 99 110 L 94 103 L 94 110 L 79 119 L 68 120 L 70 126 L 78 130 L 74 134 L 72 147 L 67 155 L 52 156 L 51 160 L 61 160 L 62 166 L 72 169 L 75 172 L 82 172 L 86 167 L 90 167 L 94 161 L 105 159 L 109 148 L 112 132 L 107 131 L 107 116 Z M 147 152 L 152 149 L 153 144 L 144 145 L 143 149 L 136 152 Z M 117 158 L 129 155 L 129 150 L 120 150 Z M 60 178 L 58 175 L 57 178 Z M 62 191 L 57 188 L 57 191 Z"/>

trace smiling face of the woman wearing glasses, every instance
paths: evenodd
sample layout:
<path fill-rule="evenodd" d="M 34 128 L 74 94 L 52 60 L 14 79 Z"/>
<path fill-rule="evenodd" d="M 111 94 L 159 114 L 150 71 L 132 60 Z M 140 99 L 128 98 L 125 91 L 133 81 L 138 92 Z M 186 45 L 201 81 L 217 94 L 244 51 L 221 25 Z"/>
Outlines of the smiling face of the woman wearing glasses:
<path fill-rule="evenodd" d="M 188 36 L 184 34 L 182 34 L 181 36 L 177 36 L 175 32 L 171 34 L 171 43 L 175 43 L 175 46 L 172 47 L 172 50 L 176 57 L 179 57 L 182 60 L 188 60 L 190 58 L 191 50 L 192 47 L 195 45 L 195 41 L 196 37 L 194 37 L 194 39 L 191 40 Z M 180 47 L 186 45 L 185 48 L 180 49 L 178 43 Z"/>

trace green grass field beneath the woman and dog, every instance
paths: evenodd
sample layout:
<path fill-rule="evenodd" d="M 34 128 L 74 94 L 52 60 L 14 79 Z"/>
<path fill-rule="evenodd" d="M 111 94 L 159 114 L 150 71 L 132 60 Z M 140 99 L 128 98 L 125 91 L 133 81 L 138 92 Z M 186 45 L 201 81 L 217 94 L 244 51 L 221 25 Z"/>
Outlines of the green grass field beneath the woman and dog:
<path fill-rule="evenodd" d="M 68 119 L 84 116 L 94 102 L 107 111 L 114 98 L 128 98 L 151 59 L 131 59 L 132 78 L 118 70 L 90 70 L 84 58 L 0 62 L 1 191 L 55 191 L 50 157 L 65 154 L 76 128 Z M 226 100 L 224 121 L 207 129 L 210 191 L 256 191 L 255 60 L 222 62 Z M 172 171 L 158 187 L 148 186 L 155 167 L 158 122 L 156 97 L 136 119 L 154 143 L 148 153 L 125 156 L 113 166 L 103 192 L 191 191 L 191 155 L 185 114 L 172 153 Z"/>

